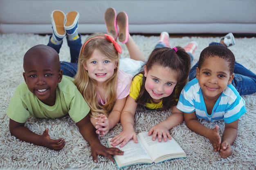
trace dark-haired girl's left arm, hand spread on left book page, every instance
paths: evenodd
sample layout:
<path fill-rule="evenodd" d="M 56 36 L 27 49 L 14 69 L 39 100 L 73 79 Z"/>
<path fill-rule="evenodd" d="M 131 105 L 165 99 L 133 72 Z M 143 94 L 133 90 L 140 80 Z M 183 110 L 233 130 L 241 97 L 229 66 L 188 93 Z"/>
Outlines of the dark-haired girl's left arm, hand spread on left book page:
<path fill-rule="evenodd" d="M 110 140 L 110 142 L 112 142 L 112 146 L 117 146 L 118 144 L 121 144 L 120 147 L 123 147 L 125 144 L 127 144 L 127 142 L 130 139 L 133 139 L 135 143 L 138 142 L 137 134 L 133 129 L 136 109 L 137 103 L 135 102 L 135 99 L 128 96 L 126 104 L 124 106 L 124 110 L 121 113 L 121 125 L 123 131 L 119 135 L 113 137 L 113 139 Z"/>

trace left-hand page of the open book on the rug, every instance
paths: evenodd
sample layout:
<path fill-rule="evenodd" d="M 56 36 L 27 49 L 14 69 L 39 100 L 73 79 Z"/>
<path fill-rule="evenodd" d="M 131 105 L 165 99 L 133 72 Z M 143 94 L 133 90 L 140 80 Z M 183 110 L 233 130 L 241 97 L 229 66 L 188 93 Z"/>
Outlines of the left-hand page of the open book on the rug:
<path fill-rule="evenodd" d="M 108 145 L 110 145 L 110 139 L 108 139 Z M 128 141 L 128 143 L 120 147 L 120 144 L 118 146 L 115 146 L 116 148 L 119 148 L 120 150 L 124 151 L 124 155 L 115 155 L 114 158 L 117 162 L 117 165 L 121 167 L 127 166 L 130 164 L 135 163 L 153 163 L 151 157 L 148 155 L 146 149 L 142 145 L 141 141 L 138 138 L 138 143 L 136 144 L 133 139 Z"/>

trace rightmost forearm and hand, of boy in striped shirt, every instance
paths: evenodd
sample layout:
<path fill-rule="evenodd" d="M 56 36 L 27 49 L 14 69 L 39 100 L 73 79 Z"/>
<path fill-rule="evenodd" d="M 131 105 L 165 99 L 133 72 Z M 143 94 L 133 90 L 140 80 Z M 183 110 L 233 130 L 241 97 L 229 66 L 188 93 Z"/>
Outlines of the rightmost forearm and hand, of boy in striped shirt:
<path fill-rule="evenodd" d="M 227 158 L 232 154 L 231 145 L 236 139 L 238 129 L 238 120 L 225 124 L 225 130 L 222 135 L 222 143 L 220 149 L 220 156 L 222 158 Z"/>

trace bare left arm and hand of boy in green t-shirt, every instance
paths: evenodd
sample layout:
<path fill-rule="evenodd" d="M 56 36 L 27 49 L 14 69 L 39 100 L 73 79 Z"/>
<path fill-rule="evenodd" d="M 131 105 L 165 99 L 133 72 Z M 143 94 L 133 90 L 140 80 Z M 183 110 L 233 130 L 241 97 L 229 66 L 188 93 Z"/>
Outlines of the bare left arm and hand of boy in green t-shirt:
<path fill-rule="evenodd" d="M 56 140 L 51 139 L 48 134 L 48 128 L 45 129 L 43 135 L 37 135 L 36 133 L 26 128 L 24 124 L 18 123 L 12 119 L 10 119 L 9 121 L 9 130 L 11 132 L 11 135 L 17 137 L 22 141 L 26 141 L 38 146 L 45 146 L 53 150 L 61 150 L 66 144 L 63 138 L 59 138 Z"/>

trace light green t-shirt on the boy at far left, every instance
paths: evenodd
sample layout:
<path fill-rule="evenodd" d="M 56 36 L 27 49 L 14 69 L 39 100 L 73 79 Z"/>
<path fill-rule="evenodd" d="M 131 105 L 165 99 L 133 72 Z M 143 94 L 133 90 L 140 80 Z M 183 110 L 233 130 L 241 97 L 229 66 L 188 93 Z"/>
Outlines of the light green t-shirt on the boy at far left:
<path fill-rule="evenodd" d="M 18 123 L 25 123 L 29 115 L 36 118 L 58 118 L 67 114 L 74 122 L 79 122 L 90 111 L 90 107 L 72 82 L 71 77 L 63 75 L 56 88 L 56 102 L 48 106 L 31 93 L 22 82 L 11 97 L 6 114 Z"/>

